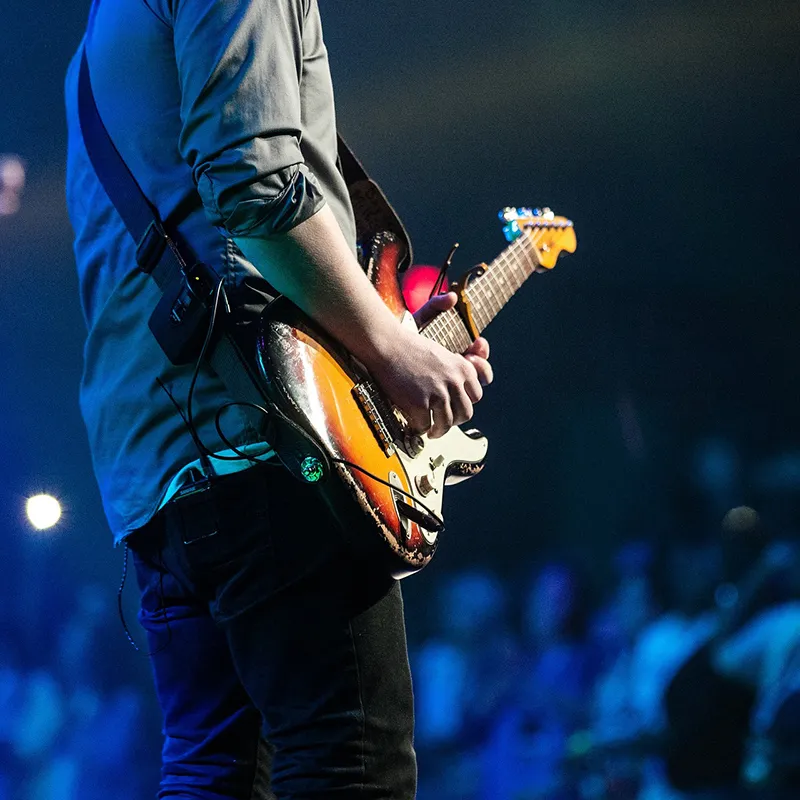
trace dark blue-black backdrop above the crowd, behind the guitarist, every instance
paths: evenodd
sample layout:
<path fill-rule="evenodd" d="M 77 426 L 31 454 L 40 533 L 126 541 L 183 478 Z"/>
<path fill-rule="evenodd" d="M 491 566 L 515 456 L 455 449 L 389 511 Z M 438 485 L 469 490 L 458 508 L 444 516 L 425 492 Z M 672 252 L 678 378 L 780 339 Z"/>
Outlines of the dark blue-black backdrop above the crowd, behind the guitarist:
<path fill-rule="evenodd" d="M 457 268 L 493 259 L 506 205 L 552 207 L 579 242 L 488 331 L 496 384 L 475 422 L 489 463 L 450 491 L 438 564 L 406 583 L 412 608 L 437 569 L 512 575 L 557 548 L 591 565 L 623 538 L 669 535 L 691 516 L 702 437 L 754 463 L 800 445 L 800 5 L 320 6 L 341 130 L 418 262 L 453 241 Z M 63 201 L 62 81 L 87 10 L 0 11 L 0 152 L 28 172 L 20 212 L 0 218 L 0 568 L 9 596 L 40 605 L 32 640 L 48 630 L 43 563 L 64 596 L 111 591 L 121 571 L 77 406 Z M 65 508 L 47 541 L 23 520 L 38 490 Z M 741 499 L 757 504 L 755 485 Z"/>

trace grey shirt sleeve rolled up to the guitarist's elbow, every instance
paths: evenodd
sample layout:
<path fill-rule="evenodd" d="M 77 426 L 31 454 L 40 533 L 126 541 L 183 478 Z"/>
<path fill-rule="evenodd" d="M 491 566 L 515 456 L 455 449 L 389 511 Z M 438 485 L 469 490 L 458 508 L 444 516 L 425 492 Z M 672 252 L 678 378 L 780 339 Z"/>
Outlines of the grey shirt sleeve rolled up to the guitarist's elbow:
<path fill-rule="evenodd" d="M 180 150 L 211 222 L 268 237 L 324 204 L 307 169 L 300 79 L 306 0 L 174 0 Z"/>

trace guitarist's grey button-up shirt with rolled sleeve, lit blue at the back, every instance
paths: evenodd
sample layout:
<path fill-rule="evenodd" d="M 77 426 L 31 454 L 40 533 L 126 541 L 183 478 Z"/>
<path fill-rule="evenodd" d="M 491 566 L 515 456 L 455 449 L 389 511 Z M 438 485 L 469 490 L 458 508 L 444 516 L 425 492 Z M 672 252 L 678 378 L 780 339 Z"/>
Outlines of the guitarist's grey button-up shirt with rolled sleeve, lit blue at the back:
<path fill-rule="evenodd" d="M 96 0 L 89 30 L 92 84 L 109 134 L 161 217 L 176 220 L 194 254 L 224 277 L 240 320 L 257 315 L 269 287 L 234 236 L 280 235 L 327 202 L 355 248 L 316 0 Z M 80 401 L 119 541 L 151 518 L 171 479 L 197 459 L 157 380 L 185 408 L 192 368 L 173 367 L 147 327 L 159 292 L 138 271 L 133 240 L 86 155 L 79 63 L 78 54 L 66 106 L 67 203 L 88 328 Z M 193 408 L 213 451 L 225 447 L 214 415 L 230 399 L 204 366 Z M 237 445 L 257 440 L 235 410 L 223 428 Z"/>

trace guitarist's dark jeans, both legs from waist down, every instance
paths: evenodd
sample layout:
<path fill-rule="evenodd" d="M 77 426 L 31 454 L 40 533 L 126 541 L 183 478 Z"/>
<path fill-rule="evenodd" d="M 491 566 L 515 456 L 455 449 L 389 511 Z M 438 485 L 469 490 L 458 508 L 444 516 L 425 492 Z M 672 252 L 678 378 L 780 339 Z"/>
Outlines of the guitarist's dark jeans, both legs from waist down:
<path fill-rule="evenodd" d="M 414 797 L 400 587 L 344 545 L 313 487 L 254 467 L 168 504 L 130 547 L 164 712 L 159 798 Z"/>

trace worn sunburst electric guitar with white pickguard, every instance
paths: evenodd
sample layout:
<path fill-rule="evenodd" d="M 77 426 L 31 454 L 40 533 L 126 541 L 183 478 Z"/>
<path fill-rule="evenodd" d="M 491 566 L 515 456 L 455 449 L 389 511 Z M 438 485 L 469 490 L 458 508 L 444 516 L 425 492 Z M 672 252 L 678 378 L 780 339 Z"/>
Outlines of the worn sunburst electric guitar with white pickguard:
<path fill-rule="evenodd" d="M 464 352 L 530 275 L 575 251 L 572 222 L 549 209 L 507 208 L 500 217 L 509 246 L 452 286 L 456 307 L 420 330 L 451 352 Z M 366 268 L 383 302 L 414 325 L 397 280 L 403 255 L 394 235 L 379 234 Z M 301 476 L 319 481 L 345 530 L 396 578 L 422 569 L 444 527 L 444 487 L 481 471 L 486 438 L 458 427 L 439 439 L 411 431 L 363 366 L 285 298 L 262 315 L 256 361 L 270 401 L 315 443 L 305 455 L 300 446 Z"/>

